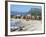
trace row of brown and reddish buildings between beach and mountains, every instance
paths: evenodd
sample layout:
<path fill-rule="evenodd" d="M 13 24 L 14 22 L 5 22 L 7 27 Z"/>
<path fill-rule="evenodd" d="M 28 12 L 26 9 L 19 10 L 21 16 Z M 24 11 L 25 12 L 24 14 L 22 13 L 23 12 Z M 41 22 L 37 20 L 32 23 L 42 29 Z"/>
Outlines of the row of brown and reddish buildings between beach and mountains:
<path fill-rule="evenodd" d="M 28 14 L 26 16 L 16 15 L 16 16 L 13 16 L 13 18 L 15 18 L 15 19 L 25 19 L 27 21 L 29 21 L 29 20 L 41 20 L 41 16 L 33 16 L 31 14 Z"/>

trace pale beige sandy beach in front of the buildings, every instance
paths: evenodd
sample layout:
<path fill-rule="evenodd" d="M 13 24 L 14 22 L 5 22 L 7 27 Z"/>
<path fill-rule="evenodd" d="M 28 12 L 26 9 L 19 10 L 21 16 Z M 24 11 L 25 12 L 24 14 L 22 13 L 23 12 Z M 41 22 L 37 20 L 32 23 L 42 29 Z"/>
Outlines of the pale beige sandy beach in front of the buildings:
<path fill-rule="evenodd" d="M 26 21 L 24 19 L 15 19 L 15 22 L 19 22 L 18 26 L 24 26 L 22 31 L 35 31 L 42 30 L 41 20 L 29 20 Z"/>

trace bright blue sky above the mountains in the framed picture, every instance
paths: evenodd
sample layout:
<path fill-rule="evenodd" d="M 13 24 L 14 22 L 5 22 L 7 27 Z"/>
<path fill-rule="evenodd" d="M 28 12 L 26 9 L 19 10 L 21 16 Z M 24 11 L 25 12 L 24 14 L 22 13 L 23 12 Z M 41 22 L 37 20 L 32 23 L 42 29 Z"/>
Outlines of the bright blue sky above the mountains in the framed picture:
<path fill-rule="evenodd" d="M 10 10 L 12 12 L 18 11 L 18 12 L 28 12 L 31 10 L 31 8 L 40 8 L 40 6 L 32 6 L 32 5 L 10 5 Z"/>

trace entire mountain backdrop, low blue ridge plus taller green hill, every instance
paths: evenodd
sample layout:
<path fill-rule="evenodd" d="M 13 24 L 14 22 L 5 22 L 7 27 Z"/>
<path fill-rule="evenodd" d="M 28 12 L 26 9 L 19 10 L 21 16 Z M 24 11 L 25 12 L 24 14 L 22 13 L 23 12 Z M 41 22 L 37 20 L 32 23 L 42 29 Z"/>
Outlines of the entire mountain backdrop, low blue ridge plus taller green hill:
<path fill-rule="evenodd" d="M 26 16 L 27 14 L 30 15 L 41 15 L 41 8 L 31 8 L 31 10 L 29 10 L 28 12 L 18 12 L 18 11 L 11 11 L 11 15 L 16 16 L 16 15 L 20 15 L 20 16 Z"/>

